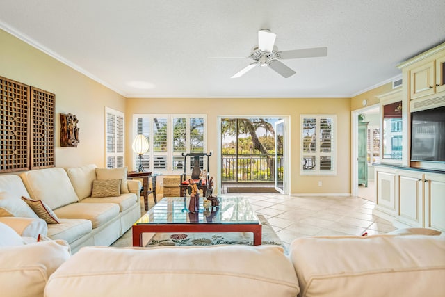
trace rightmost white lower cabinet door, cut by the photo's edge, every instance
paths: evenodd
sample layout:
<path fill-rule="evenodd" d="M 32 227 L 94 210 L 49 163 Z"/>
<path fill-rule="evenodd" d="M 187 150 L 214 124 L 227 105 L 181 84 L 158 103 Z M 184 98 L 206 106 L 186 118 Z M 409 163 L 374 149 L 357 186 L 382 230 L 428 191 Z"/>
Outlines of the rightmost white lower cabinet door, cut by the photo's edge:
<path fill-rule="evenodd" d="M 445 232 L 445 175 L 425 178 L 425 227 Z"/>

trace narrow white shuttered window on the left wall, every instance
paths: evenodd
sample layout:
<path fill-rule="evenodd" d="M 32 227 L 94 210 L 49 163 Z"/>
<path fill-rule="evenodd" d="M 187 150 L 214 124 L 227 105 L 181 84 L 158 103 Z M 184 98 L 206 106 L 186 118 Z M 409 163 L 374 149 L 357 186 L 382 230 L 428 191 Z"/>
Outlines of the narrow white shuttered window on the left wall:
<path fill-rule="evenodd" d="M 105 107 L 105 159 L 107 168 L 124 166 L 124 113 Z"/>

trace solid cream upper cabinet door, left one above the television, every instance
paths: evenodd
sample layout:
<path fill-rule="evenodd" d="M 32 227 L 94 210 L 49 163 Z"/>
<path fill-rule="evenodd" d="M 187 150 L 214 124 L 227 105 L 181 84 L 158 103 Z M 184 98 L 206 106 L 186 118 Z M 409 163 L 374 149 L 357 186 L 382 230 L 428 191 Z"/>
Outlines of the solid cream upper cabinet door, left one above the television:
<path fill-rule="evenodd" d="M 410 99 L 435 93 L 435 62 L 416 67 L 410 71 Z"/>

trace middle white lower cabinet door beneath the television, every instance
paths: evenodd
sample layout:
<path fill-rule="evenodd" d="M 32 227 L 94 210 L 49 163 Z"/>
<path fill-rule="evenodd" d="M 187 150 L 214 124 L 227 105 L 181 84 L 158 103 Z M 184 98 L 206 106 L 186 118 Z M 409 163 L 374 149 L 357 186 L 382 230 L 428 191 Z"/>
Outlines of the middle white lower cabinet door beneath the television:
<path fill-rule="evenodd" d="M 423 227 L 423 175 L 403 172 L 398 175 L 398 220 Z"/>

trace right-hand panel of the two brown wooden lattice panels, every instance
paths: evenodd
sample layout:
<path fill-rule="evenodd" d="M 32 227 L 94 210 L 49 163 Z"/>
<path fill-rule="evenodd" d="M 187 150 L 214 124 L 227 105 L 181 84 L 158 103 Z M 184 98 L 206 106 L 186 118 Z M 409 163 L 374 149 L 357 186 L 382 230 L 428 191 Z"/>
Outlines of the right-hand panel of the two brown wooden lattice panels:
<path fill-rule="evenodd" d="M 54 167 L 55 97 L 31 87 L 31 169 Z"/>

